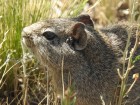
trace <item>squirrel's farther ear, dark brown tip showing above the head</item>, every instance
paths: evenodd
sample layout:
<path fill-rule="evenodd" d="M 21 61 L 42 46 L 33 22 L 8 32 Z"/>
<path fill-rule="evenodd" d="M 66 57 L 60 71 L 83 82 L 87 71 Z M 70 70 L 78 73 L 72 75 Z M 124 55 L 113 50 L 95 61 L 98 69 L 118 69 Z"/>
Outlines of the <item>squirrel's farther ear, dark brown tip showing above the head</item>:
<path fill-rule="evenodd" d="M 87 15 L 87 14 L 85 14 L 85 15 L 84 15 L 84 14 L 83 14 L 83 15 L 79 15 L 79 16 L 77 17 L 77 21 L 82 22 L 82 23 L 84 23 L 85 25 L 89 25 L 89 26 L 94 27 L 94 24 L 93 24 L 92 19 L 91 19 L 90 16 Z"/>

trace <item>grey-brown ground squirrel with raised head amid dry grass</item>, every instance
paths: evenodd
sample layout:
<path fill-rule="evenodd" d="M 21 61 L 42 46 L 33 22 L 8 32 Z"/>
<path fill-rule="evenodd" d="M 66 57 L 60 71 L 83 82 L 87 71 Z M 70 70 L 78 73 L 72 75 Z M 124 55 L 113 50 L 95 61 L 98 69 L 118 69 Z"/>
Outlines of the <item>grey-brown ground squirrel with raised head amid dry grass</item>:
<path fill-rule="evenodd" d="M 70 74 L 77 93 L 76 105 L 102 105 L 101 98 L 109 105 L 118 86 L 117 68 L 122 69 L 122 51 L 129 27 L 127 24 L 115 24 L 95 29 L 89 15 L 48 19 L 25 27 L 22 41 L 47 67 L 57 94 L 62 95 L 64 60 L 64 86 L 67 89 Z M 132 36 L 135 36 L 135 31 L 132 30 Z M 131 41 L 132 47 L 135 37 Z M 140 49 L 137 53 L 140 54 Z M 139 61 L 132 71 L 140 72 Z M 140 104 L 139 81 L 128 95 L 126 105 Z"/>

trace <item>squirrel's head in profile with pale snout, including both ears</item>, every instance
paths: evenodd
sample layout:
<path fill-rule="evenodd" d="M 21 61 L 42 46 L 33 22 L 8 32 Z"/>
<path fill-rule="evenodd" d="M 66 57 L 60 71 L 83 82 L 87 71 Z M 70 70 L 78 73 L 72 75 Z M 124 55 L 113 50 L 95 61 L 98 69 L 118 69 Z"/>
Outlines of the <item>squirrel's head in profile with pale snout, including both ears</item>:
<path fill-rule="evenodd" d="M 86 48 L 93 27 L 88 15 L 48 19 L 25 27 L 22 41 L 44 64 L 59 64 L 62 54 L 70 59 Z"/>

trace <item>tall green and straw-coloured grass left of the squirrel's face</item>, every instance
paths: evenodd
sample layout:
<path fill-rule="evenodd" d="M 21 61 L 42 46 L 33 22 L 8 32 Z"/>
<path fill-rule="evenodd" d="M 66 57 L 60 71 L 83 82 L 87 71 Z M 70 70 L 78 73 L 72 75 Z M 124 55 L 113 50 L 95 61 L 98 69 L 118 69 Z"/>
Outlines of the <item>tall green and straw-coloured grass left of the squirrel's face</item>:
<path fill-rule="evenodd" d="M 39 72 L 37 63 L 31 56 L 28 61 L 30 63 L 27 64 L 25 81 L 21 31 L 23 27 L 39 20 L 76 16 L 87 2 L 87 0 L 54 1 L 0 0 L 0 104 L 26 104 L 32 100 L 30 95 L 36 97 L 36 102 L 43 101 L 45 96 L 38 97 L 36 92 L 40 87 L 37 84 L 43 81 L 44 71 Z M 42 91 L 46 91 L 45 82 L 41 85 L 41 89 L 44 88 Z M 30 94 L 26 92 L 26 87 L 31 91 Z M 25 96 L 29 99 L 27 100 Z"/>

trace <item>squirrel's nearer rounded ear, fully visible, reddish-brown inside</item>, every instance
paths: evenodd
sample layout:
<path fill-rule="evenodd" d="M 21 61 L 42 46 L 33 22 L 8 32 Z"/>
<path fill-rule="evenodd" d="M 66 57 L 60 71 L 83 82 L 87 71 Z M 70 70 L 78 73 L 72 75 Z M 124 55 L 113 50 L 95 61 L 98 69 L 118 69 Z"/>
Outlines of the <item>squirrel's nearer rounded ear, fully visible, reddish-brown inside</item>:
<path fill-rule="evenodd" d="M 69 37 L 66 42 L 74 50 L 83 50 L 87 45 L 87 33 L 85 32 L 85 25 L 81 22 L 74 24 L 69 29 Z"/>

